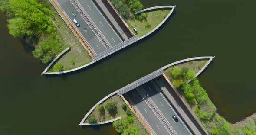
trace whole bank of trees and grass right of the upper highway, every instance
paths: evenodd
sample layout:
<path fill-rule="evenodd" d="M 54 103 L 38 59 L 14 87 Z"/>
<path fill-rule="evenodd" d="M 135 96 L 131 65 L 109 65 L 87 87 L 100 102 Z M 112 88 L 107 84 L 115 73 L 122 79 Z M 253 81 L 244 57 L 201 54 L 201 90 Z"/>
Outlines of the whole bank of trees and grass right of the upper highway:
<path fill-rule="evenodd" d="M 143 5 L 139 0 L 110 0 L 115 6 L 125 22 L 131 29 L 136 28 L 136 35 L 139 37 L 146 35 L 157 27 L 170 13 L 170 8 L 148 10 L 142 13 L 136 12 L 143 9 Z"/>

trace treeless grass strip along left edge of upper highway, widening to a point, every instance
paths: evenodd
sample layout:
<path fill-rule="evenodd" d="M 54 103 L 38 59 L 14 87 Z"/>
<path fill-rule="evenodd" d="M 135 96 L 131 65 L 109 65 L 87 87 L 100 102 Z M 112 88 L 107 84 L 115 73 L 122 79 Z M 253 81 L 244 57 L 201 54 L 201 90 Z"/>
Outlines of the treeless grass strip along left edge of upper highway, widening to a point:
<path fill-rule="evenodd" d="M 63 66 L 62 70 L 66 71 L 91 62 L 91 56 L 88 54 L 85 48 L 83 48 L 82 44 L 75 37 L 61 16 L 59 16 L 59 13 L 55 10 L 49 0 L 45 0 L 45 3 L 48 5 L 49 10 L 53 13 L 53 24 L 56 26 L 56 30 L 58 32 L 57 35 L 60 42 L 62 42 L 63 48 L 68 46 L 71 48 L 70 51 L 60 57 L 54 65 L 61 64 Z M 59 71 L 58 68 L 53 68 L 54 65 L 49 69 L 49 72 Z"/>

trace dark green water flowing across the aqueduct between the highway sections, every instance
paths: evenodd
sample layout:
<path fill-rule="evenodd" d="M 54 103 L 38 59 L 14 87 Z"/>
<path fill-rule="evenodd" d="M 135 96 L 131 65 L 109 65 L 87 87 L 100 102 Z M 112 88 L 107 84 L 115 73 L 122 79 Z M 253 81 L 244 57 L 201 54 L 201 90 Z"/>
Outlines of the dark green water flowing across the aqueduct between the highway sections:
<path fill-rule="evenodd" d="M 89 68 L 42 76 L 46 65 L 8 34 L 0 14 L 0 135 L 117 135 L 112 125 L 79 122 L 109 93 L 166 64 L 216 56 L 200 76 L 218 113 L 236 122 L 256 113 L 255 0 L 141 0 L 177 5 L 171 19 L 144 41 Z"/>

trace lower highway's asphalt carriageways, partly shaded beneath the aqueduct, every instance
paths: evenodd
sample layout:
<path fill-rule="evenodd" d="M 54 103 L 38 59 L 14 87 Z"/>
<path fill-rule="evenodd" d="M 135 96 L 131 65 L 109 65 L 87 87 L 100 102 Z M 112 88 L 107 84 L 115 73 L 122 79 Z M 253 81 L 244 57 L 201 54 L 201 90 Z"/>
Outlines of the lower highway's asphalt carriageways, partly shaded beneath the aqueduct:
<path fill-rule="evenodd" d="M 169 125 L 171 130 L 174 132 L 174 135 L 192 135 L 190 130 L 174 111 L 171 104 L 163 96 L 160 88 L 154 83 L 154 81 L 149 81 L 136 89 L 125 93 L 125 96 L 135 106 L 138 112 L 140 112 L 140 115 L 144 117 L 155 134 L 172 135 L 170 130 L 167 129 L 167 126 L 160 119 L 154 109 L 152 109 L 146 99 L 148 99 L 157 109 L 167 125 Z M 178 122 L 173 120 L 173 114 L 177 116 L 179 120 Z"/>

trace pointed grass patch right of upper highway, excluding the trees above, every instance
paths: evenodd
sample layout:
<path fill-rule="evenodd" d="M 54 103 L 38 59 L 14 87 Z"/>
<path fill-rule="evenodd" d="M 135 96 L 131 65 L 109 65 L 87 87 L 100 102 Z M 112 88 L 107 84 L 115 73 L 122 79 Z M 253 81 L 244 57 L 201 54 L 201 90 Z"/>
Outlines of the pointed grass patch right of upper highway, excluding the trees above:
<path fill-rule="evenodd" d="M 170 13 L 170 11 L 171 10 L 152 10 L 145 13 L 146 18 L 143 20 L 125 19 L 125 21 L 131 29 L 136 28 L 136 35 L 141 37 L 157 27 L 168 15 L 168 13 Z M 135 15 L 135 18 L 139 15 L 140 14 Z"/>

